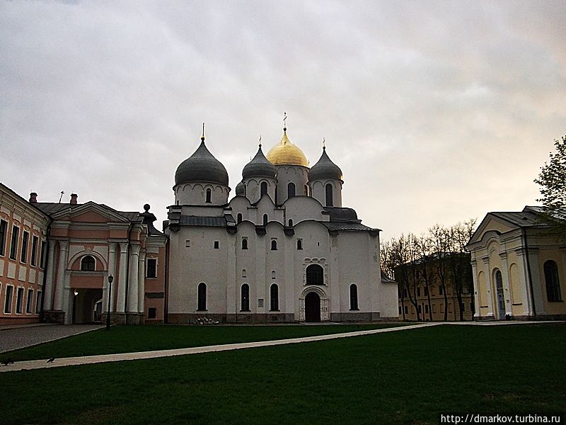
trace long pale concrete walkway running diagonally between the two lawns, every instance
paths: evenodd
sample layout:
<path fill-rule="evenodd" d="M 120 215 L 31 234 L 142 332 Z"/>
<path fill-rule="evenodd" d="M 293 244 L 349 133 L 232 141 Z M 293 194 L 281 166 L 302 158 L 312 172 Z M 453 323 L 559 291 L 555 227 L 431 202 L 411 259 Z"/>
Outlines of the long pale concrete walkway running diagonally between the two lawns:
<path fill-rule="evenodd" d="M 67 357 L 67 358 L 56 358 L 51 363 L 47 363 L 47 360 L 30 360 L 21 361 L 16 363 L 11 363 L 9 365 L 2 365 L 0 367 L 0 372 L 12 372 L 16 370 L 33 370 L 33 369 L 44 369 L 44 368 L 58 368 L 61 366 L 71 366 L 71 365 L 86 365 L 93 363 L 107 363 L 110 361 L 126 361 L 126 360 L 141 360 L 147 358 L 159 358 L 159 357 L 173 357 L 173 356 L 186 356 L 187 354 L 197 354 L 197 353 L 212 353 L 215 351 L 228 351 L 228 350 L 238 350 L 241 348 L 255 348 L 255 347 L 267 347 L 267 346 L 278 346 L 284 344 L 298 344 L 301 342 L 312 342 L 312 341 L 325 341 L 327 339 L 338 339 L 338 338 L 349 338 L 351 336 L 362 336 L 362 335 L 372 335 L 372 334 L 382 334 L 385 332 L 396 332 L 396 331 L 407 331 L 410 329 L 420 329 L 423 327 L 434 327 L 442 326 L 446 324 L 458 324 L 467 326 L 502 326 L 502 325 L 520 325 L 520 324 L 543 324 L 543 323 L 560 323 L 560 322 L 424 322 L 420 324 L 411 324 L 408 326 L 391 327 L 385 329 L 370 329 L 367 331 L 356 331 L 356 332 L 346 332 L 343 334 L 330 334 L 330 335 L 318 335 L 318 336 L 306 336 L 303 338 L 292 338 L 292 339 L 278 339 L 275 341 L 257 341 L 257 342 L 244 342 L 239 344 L 222 344 L 215 346 L 203 346 L 203 347 L 192 347 L 192 348 L 175 348 L 173 350 L 160 350 L 160 351 L 140 351 L 138 353 L 117 353 L 117 354 L 102 354 L 100 356 L 83 356 L 83 357 Z M 79 325 L 75 325 L 79 326 Z M 91 325 L 93 326 L 93 325 Z M 1 334 L 4 336 L 4 333 Z"/>

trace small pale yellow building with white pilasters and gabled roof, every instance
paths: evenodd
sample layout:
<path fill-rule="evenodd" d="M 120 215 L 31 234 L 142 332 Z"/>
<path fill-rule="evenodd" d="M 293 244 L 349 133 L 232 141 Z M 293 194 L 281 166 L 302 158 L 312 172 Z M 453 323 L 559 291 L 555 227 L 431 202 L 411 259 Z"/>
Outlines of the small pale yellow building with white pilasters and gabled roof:
<path fill-rule="evenodd" d="M 566 246 L 541 208 L 489 212 L 467 248 L 475 319 L 566 319 Z"/>

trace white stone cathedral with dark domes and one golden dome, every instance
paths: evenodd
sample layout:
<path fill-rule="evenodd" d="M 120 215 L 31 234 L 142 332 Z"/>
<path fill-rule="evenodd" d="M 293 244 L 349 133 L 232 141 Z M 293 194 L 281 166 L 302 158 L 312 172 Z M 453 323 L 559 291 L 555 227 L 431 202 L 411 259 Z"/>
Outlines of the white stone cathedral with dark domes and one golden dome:
<path fill-rule="evenodd" d="M 398 319 L 379 229 L 342 207 L 342 171 L 323 147 L 310 169 L 283 129 L 261 145 L 229 200 L 228 173 L 200 147 L 175 173 L 169 207 L 169 323 Z"/>

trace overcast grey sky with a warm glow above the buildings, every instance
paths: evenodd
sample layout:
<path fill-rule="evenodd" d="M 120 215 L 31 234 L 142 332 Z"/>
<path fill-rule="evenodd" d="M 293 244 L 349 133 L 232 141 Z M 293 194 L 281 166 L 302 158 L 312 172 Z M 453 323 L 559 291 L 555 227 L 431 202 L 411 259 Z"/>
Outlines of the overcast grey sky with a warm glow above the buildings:
<path fill-rule="evenodd" d="M 327 152 L 382 241 L 521 210 L 566 134 L 557 1 L 2 1 L 0 181 L 166 219 L 200 142 L 229 172 Z"/>

